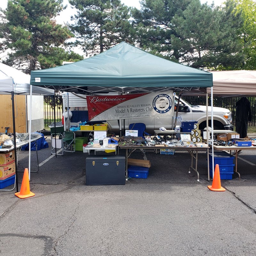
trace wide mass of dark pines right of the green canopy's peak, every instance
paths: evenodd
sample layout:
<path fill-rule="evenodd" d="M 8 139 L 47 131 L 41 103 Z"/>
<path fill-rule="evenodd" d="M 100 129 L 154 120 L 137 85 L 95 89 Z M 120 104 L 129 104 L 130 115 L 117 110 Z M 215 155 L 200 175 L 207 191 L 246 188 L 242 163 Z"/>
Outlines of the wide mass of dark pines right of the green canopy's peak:
<path fill-rule="evenodd" d="M 235 5 L 201 4 L 199 0 L 143 0 L 133 10 L 141 47 L 194 68 L 239 67 L 243 60 L 236 29 Z"/>

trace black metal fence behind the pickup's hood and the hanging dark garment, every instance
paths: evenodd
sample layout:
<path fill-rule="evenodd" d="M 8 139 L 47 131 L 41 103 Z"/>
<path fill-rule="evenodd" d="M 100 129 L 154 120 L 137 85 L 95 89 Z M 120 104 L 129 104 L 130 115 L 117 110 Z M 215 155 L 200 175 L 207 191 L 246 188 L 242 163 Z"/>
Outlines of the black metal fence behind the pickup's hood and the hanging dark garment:
<path fill-rule="evenodd" d="M 213 97 L 213 106 L 220 108 L 228 108 L 232 112 L 232 124 L 236 126 L 236 102 L 242 97 Z M 248 126 L 255 126 L 256 123 L 256 98 L 246 97 L 251 102 L 252 121 L 248 122 Z M 182 99 L 192 105 L 206 105 L 206 97 L 185 96 Z M 208 104 L 211 106 L 211 97 L 208 99 Z"/>

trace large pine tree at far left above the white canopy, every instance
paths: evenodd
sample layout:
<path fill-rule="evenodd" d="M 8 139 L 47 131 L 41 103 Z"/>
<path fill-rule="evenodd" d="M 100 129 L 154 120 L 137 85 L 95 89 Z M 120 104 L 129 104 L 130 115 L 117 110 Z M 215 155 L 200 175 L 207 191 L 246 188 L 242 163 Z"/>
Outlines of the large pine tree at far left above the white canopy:
<path fill-rule="evenodd" d="M 62 0 L 9 0 L 0 14 L 0 51 L 9 49 L 4 63 L 30 74 L 31 70 L 60 65 L 64 55 L 80 60 L 81 56 L 59 48 L 73 36 L 54 19 L 62 9 Z"/>

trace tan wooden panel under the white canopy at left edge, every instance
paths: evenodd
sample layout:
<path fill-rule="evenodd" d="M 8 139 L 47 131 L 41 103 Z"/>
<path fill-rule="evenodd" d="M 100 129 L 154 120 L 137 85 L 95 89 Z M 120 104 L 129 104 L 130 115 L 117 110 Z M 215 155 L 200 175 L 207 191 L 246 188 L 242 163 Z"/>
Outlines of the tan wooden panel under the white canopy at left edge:
<path fill-rule="evenodd" d="M 8 132 L 13 132 L 11 95 L 0 95 L 0 109 L 0 132 L 5 132 L 5 127 L 10 127 Z M 14 95 L 14 116 L 16 132 L 27 132 L 25 95 Z"/>

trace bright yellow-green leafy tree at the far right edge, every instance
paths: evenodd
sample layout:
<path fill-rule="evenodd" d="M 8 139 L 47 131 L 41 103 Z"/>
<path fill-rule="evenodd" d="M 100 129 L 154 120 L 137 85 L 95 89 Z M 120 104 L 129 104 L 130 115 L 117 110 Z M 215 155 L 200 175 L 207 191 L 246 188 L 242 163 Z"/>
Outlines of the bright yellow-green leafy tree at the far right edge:
<path fill-rule="evenodd" d="M 235 1 L 237 12 L 242 13 L 243 24 L 238 30 L 241 39 L 241 48 L 244 51 L 245 60 L 242 69 L 256 69 L 256 2 L 253 0 Z"/>

